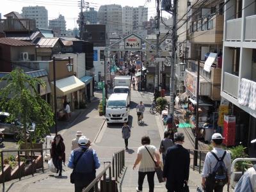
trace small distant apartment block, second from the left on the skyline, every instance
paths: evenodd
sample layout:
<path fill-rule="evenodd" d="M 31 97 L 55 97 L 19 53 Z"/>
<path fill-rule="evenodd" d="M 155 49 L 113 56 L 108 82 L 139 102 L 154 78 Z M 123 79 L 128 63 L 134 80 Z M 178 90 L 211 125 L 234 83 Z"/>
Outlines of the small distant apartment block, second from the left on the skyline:
<path fill-rule="evenodd" d="M 49 20 L 49 29 L 52 29 L 54 33 L 58 35 L 66 34 L 66 20 L 63 15 L 59 15 L 58 18 Z"/>

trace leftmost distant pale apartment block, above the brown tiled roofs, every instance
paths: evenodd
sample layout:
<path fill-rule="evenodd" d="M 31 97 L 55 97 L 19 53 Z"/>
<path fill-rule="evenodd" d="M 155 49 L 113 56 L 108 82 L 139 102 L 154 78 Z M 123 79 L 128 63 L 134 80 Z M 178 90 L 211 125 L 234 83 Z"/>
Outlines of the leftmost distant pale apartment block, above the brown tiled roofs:
<path fill-rule="evenodd" d="M 36 28 L 48 28 L 48 11 L 44 6 L 24 6 L 22 16 L 24 19 L 35 19 Z"/>

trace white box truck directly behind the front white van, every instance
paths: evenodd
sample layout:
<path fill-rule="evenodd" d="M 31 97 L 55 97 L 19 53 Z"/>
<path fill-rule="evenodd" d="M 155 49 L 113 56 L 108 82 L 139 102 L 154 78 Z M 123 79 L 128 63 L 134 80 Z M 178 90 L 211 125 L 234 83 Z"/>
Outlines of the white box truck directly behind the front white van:
<path fill-rule="evenodd" d="M 114 93 L 128 93 L 131 101 L 131 76 L 116 76 L 114 78 Z"/>

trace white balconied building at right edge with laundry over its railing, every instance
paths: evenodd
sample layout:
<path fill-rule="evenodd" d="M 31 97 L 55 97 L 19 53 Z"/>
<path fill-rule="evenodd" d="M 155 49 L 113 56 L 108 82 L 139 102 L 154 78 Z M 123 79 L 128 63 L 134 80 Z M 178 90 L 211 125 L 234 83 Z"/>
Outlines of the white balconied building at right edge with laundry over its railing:
<path fill-rule="evenodd" d="M 255 156 L 256 3 L 225 0 L 221 97 L 236 116 L 236 141 Z"/>

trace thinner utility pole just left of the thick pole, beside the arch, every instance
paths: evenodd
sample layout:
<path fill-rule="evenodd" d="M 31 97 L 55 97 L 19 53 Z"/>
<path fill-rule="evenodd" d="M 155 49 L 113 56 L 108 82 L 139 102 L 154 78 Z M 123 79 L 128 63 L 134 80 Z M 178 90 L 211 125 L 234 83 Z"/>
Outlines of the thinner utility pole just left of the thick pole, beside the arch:
<path fill-rule="evenodd" d="M 157 7 L 157 20 L 156 20 L 156 55 L 159 58 L 159 36 L 160 36 L 160 0 L 156 0 Z M 157 81 L 157 91 L 159 91 L 159 61 L 156 63 L 156 76 L 155 81 Z"/>

